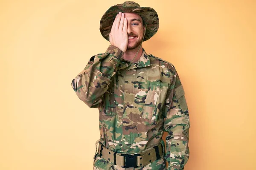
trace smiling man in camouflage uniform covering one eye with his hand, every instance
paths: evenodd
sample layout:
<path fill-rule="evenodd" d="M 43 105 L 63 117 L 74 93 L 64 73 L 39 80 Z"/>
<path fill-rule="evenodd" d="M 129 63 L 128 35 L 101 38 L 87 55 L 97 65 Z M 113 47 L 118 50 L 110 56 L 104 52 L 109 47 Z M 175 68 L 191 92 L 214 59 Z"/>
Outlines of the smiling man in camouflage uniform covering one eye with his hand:
<path fill-rule="evenodd" d="M 180 78 L 174 65 L 142 48 L 158 27 L 153 8 L 131 1 L 112 6 L 100 21 L 111 45 L 91 57 L 71 83 L 79 99 L 99 109 L 94 170 L 183 170 L 189 159 L 190 122 Z"/>

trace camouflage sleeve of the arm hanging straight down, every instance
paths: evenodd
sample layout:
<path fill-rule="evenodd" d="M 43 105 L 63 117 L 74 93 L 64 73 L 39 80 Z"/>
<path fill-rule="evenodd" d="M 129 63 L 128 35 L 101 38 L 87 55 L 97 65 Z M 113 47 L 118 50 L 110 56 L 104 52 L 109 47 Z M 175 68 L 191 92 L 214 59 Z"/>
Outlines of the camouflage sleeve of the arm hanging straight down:
<path fill-rule="evenodd" d="M 163 107 L 168 170 L 183 170 L 189 159 L 189 111 L 184 89 L 175 70 Z"/>

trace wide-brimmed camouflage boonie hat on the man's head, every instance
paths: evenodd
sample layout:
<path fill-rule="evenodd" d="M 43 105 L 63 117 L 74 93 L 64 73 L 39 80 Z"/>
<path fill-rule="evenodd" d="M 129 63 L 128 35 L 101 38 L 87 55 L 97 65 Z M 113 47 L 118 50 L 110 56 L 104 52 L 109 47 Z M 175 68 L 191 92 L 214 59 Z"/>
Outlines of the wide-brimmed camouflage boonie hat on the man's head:
<path fill-rule="evenodd" d="M 157 12 L 150 7 L 140 7 L 138 3 L 133 1 L 126 1 L 122 4 L 111 6 L 105 14 L 103 14 L 100 20 L 99 30 L 102 36 L 109 41 L 109 34 L 111 31 L 113 19 L 116 17 L 118 12 L 134 12 L 139 14 L 143 18 L 143 22 L 146 23 L 146 33 L 143 41 L 146 41 L 156 34 L 159 28 L 159 19 Z"/>

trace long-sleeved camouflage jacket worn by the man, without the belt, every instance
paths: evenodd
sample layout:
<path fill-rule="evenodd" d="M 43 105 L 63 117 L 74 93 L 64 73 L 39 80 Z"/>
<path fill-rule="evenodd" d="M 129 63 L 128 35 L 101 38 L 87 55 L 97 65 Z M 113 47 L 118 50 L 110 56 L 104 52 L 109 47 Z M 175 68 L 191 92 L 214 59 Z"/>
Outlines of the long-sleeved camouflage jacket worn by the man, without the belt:
<path fill-rule="evenodd" d="M 144 49 L 138 62 L 129 67 L 130 62 L 122 56 L 123 51 L 110 45 L 105 53 L 91 57 L 71 83 L 79 99 L 99 109 L 101 143 L 117 153 L 140 153 L 159 142 L 164 145 L 166 131 L 165 159 L 169 166 L 163 167 L 163 161 L 160 168 L 160 162 L 154 161 L 149 167 L 183 170 L 189 159 L 190 122 L 174 65 L 146 54 Z M 113 165 L 96 159 L 94 168 L 103 170 Z"/>

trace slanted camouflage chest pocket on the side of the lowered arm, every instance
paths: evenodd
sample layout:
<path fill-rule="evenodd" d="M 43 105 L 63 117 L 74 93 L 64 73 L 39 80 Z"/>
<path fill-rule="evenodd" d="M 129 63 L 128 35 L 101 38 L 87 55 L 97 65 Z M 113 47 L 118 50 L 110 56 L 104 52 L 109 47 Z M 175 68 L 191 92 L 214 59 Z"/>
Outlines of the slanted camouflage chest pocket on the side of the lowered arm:
<path fill-rule="evenodd" d="M 152 83 L 149 88 L 143 107 L 142 117 L 157 120 L 167 94 L 168 83 Z"/>

